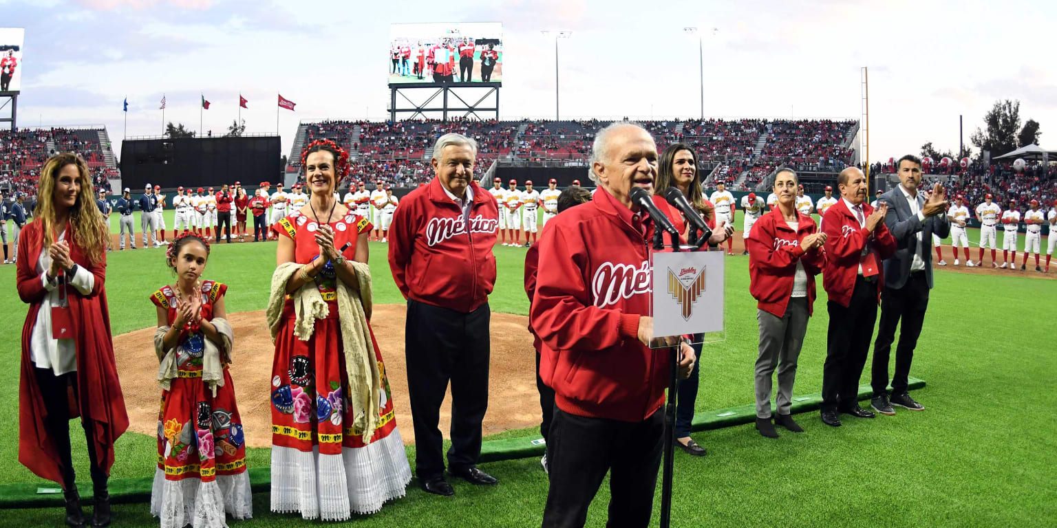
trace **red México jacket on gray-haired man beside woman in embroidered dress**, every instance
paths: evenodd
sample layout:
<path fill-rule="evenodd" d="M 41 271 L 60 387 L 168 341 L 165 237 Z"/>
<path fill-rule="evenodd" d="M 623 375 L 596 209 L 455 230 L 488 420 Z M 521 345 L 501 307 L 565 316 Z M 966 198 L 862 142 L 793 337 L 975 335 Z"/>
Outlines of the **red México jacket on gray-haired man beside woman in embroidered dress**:
<path fill-rule="evenodd" d="M 476 182 L 469 233 L 462 210 L 437 177 L 411 191 L 389 227 L 389 269 L 404 298 L 468 314 L 496 284 L 499 208 Z"/>

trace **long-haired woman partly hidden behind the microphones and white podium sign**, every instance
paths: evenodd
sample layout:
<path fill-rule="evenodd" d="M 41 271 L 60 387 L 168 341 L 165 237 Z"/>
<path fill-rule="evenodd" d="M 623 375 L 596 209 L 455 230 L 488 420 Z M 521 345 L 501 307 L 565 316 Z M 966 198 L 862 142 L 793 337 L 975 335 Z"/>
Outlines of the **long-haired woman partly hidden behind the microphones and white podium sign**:
<path fill-rule="evenodd" d="M 657 163 L 657 182 L 653 189 L 653 202 L 671 220 L 675 229 L 682 233 L 680 238 L 684 243 L 689 237 L 689 222 L 683 218 L 683 213 L 679 209 L 668 205 L 664 193 L 668 191 L 669 187 L 679 188 L 690 205 L 701 212 L 701 216 L 709 229 L 715 229 L 716 214 L 712 204 L 705 200 L 704 193 L 701 191 L 701 172 L 698 167 L 698 153 L 682 143 L 669 145 L 661 153 L 661 159 Z M 734 234 L 734 226 L 727 225 L 724 229 L 712 233 L 708 245 L 716 247 L 730 234 Z M 697 343 L 692 346 L 698 356 L 701 356 L 701 335 L 691 336 L 691 341 Z M 675 398 L 675 447 L 691 455 L 704 456 L 708 454 L 705 448 L 690 438 L 693 406 L 698 401 L 698 369 L 696 364 L 690 377 L 679 383 L 679 394 Z"/>

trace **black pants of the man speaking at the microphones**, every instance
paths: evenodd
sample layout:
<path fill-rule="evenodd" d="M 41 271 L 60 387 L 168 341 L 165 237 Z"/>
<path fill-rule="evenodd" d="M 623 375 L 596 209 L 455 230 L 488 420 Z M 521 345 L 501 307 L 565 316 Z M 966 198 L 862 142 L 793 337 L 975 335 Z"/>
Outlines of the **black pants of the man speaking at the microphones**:
<path fill-rule="evenodd" d="M 543 528 L 583 526 L 607 472 L 611 497 L 606 526 L 648 526 L 663 442 L 663 409 L 644 421 L 628 422 L 577 416 L 555 407 Z"/>

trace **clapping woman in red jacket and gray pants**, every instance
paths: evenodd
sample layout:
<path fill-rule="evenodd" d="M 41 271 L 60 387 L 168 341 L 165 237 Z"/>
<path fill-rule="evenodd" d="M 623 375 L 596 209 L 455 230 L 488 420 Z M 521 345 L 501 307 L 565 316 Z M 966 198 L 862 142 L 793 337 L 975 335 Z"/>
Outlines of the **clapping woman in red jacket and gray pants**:
<path fill-rule="evenodd" d="M 796 209 L 797 175 L 791 169 L 775 174 L 778 207 L 760 218 L 745 243 L 748 249 L 748 290 L 757 300 L 760 356 L 756 360 L 756 429 L 777 438 L 775 426 L 794 433 L 803 429 L 790 415 L 793 382 L 808 318 L 815 303 L 815 276 L 826 265 L 826 233 L 811 216 Z M 778 367 L 778 414 L 772 423 L 771 385 Z"/>

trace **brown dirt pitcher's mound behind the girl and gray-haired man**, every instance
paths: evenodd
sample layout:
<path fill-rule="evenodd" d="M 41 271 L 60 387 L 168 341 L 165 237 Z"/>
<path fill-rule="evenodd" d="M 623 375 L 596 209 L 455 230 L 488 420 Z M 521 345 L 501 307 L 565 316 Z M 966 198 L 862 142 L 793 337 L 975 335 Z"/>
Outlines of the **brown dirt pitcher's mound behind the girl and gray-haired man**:
<path fill-rule="evenodd" d="M 382 347 L 386 373 L 392 385 L 396 420 L 404 444 L 414 444 L 411 411 L 407 397 L 407 369 L 404 364 L 404 318 L 406 306 L 374 306 L 371 326 Z M 272 445 L 272 356 L 275 346 L 264 322 L 264 310 L 229 314 L 235 331 L 234 363 L 230 366 L 239 413 L 249 447 Z M 536 392 L 536 356 L 532 336 L 525 329 L 528 318 L 492 314 L 492 370 L 488 378 L 488 413 L 484 434 L 521 429 L 539 423 L 539 393 Z M 125 393 L 130 430 L 157 434 L 157 410 L 162 389 L 157 385 L 154 356 L 154 327 L 114 337 L 117 373 Z M 441 407 L 441 432 L 448 437 L 451 423 L 450 389 Z"/>

